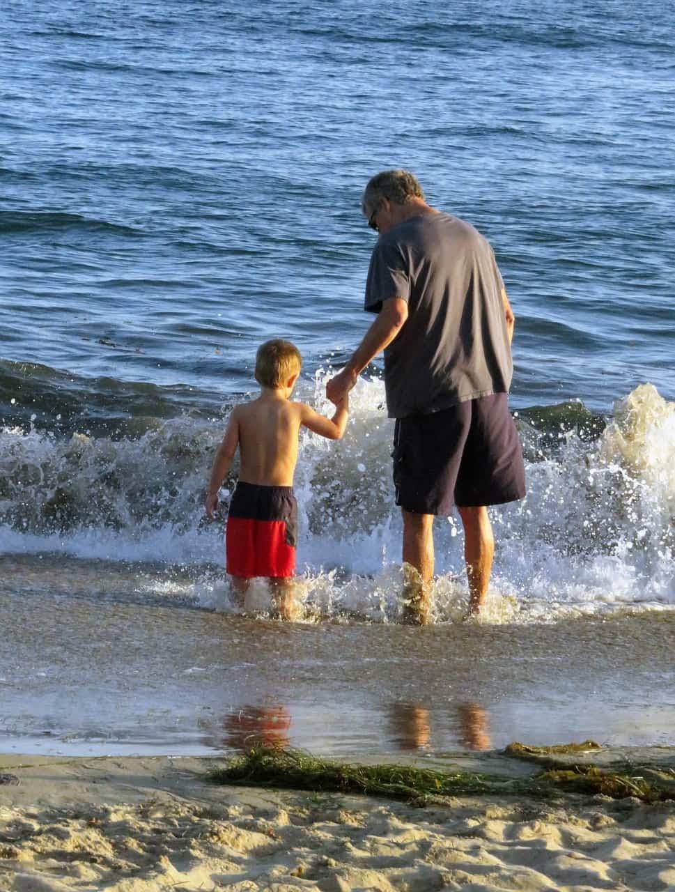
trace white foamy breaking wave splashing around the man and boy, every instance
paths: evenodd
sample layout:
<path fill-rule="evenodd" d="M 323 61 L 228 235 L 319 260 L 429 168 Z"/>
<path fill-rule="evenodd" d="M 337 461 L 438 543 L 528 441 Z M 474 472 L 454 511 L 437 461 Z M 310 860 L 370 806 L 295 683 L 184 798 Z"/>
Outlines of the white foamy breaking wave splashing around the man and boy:
<path fill-rule="evenodd" d="M 319 373 L 314 390 L 306 386 L 301 398 L 327 409 L 323 389 Z M 155 595 L 170 582 L 174 594 L 203 607 L 233 609 L 217 571 L 222 524 L 205 523 L 202 511 L 221 429 L 222 423 L 188 417 L 138 440 L 4 429 L 0 552 L 152 562 L 165 567 Z M 544 447 L 541 433 L 524 422 L 521 433 L 528 495 L 491 509 L 497 554 L 484 619 L 547 621 L 675 607 L 675 406 L 645 384 L 617 403 L 596 442 L 567 433 Z M 303 436 L 298 558 L 310 615 L 399 618 L 401 525 L 391 435 L 383 384 L 371 380 L 352 394 L 342 442 Z M 457 518 L 439 518 L 440 621 L 465 615 L 463 545 Z M 176 565 L 183 575 L 171 582 Z M 149 590 L 153 584 L 144 582 Z M 256 586 L 250 607 L 266 609 L 266 597 Z"/>

